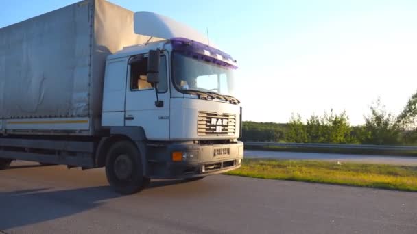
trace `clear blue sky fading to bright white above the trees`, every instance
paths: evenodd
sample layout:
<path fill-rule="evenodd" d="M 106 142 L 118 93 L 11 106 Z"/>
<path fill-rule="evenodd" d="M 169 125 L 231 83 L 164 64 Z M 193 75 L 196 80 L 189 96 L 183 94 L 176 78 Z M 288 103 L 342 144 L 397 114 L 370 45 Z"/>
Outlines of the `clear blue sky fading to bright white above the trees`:
<path fill-rule="evenodd" d="M 0 27 L 75 3 L 0 1 Z M 398 114 L 417 90 L 417 1 L 112 0 L 195 27 L 239 64 L 244 120 L 333 108 L 360 124 L 379 96 Z"/>

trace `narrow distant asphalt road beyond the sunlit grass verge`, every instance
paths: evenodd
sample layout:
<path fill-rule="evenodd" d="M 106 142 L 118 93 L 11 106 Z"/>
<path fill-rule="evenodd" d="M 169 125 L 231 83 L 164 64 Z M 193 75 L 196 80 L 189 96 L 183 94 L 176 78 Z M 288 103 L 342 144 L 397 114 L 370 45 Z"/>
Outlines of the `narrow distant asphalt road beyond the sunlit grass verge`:
<path fill-rule="evenodd" d="M 250 151 L 245 150 L 245 157 L 271 159 L 312 159 L 325 161 L 350 161 L 368 164 L 392 164 L 417 166 L 417 157 L 389 155 L 342 155 L 335 153 L 298 153 L 281 151 Z"/>

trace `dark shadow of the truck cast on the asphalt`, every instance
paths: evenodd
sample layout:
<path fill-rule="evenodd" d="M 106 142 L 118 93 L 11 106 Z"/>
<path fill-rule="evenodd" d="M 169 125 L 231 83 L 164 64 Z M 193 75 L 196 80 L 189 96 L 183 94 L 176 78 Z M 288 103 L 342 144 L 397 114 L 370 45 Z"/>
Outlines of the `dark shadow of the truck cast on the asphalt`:
<path fill-rule="evenodd" d="M 145 190 L 185 183 L 183 180 L 152 181 Z M 0 230 L 73 216 L 105 200 L 118 198 L 109 186 L 51 191 L 49 188 L 0 192 Z"/>

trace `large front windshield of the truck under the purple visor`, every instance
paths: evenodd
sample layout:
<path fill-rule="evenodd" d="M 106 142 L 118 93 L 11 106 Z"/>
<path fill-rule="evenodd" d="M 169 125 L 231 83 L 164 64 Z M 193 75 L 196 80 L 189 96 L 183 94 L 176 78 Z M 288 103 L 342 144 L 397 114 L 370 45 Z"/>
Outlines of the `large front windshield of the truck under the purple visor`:
<path fill-rule="evenodd" d="M 233 69 L 195 60 L 177 52 L 173 54 L 172 77 L 180 92 L 194 90 L 228 96 L 234 94 Z"/>

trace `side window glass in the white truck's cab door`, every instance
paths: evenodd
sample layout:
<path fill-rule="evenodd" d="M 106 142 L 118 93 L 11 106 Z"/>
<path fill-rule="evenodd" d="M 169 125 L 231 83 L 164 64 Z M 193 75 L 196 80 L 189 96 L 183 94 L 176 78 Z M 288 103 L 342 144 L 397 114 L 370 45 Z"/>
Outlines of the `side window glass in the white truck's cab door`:
<path fill-rule="evenodd" d="M 158 92 L 167 92 L 167 60 L 165 55 L 160 57 Z M 130 89 L 152 90 L 154 87 L 147 82 L 147 57 L 130 65 Z"/>

